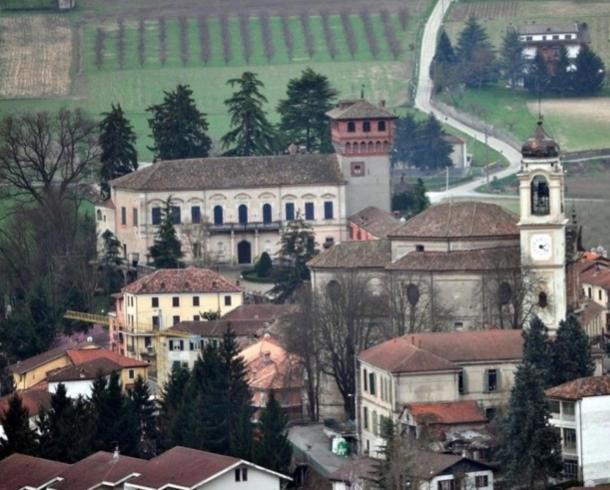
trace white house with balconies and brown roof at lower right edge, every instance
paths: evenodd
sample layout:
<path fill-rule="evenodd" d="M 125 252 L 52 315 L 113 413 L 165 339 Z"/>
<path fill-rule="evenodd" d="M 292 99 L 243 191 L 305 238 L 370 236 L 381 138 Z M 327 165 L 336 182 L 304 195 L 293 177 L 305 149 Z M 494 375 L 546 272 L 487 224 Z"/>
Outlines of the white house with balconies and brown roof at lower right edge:
<path fill-rule="evenodd" d="M 590 376 L 546 390 L 550 424 L 561 431 L 564 474 L 587 486 L 610 483 L 610 376 Z"/>

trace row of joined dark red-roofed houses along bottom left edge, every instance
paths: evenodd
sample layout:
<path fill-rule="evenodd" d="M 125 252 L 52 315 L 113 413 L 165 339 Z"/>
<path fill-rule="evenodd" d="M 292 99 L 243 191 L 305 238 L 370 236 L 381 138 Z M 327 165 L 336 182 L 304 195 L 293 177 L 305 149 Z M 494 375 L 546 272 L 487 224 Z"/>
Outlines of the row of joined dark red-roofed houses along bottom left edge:
<path fill-rule="evenodd" d="M 15 453 L 0 490 L 280 490 L 287 476 L 243 459 L 176 446 L 151 460 L 99 451 L 73 464 Z"/>

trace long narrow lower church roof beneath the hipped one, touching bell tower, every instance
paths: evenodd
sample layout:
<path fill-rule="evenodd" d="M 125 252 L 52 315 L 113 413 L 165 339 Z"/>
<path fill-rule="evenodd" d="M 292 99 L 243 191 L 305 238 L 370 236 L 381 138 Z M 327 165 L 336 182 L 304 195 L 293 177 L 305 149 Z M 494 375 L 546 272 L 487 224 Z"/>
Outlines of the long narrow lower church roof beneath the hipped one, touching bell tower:
<path fill-rule="evenodd" d="M 388 264 L 389 270 L 501 271 L 519 269 L 519 247 L 497 247 L 453 252 L 411 252 Z"/>

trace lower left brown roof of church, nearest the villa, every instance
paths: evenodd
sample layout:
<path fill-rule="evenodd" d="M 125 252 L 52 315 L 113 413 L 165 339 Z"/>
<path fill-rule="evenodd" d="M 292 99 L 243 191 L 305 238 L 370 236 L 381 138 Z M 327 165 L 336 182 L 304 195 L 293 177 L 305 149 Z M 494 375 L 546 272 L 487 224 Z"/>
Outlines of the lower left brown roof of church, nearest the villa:
<path fill-rule="evenodd" d="M 316 255 L 307 265 L 312 268 L 383 268 L 392 258 L 388 240 L 337 243 Z"/>

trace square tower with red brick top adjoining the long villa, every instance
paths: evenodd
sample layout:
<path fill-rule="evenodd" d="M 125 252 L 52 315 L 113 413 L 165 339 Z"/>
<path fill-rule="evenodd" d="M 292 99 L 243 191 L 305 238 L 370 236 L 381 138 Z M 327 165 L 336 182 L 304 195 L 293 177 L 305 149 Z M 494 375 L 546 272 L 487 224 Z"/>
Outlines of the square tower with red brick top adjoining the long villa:
<path fill-rule="evenodd" d="M 343 100 L 326 113 L 346 185 L 347 216 L 375 206 L 391 211 L 390 151 L 396 116 L 364 99 Z"/>

